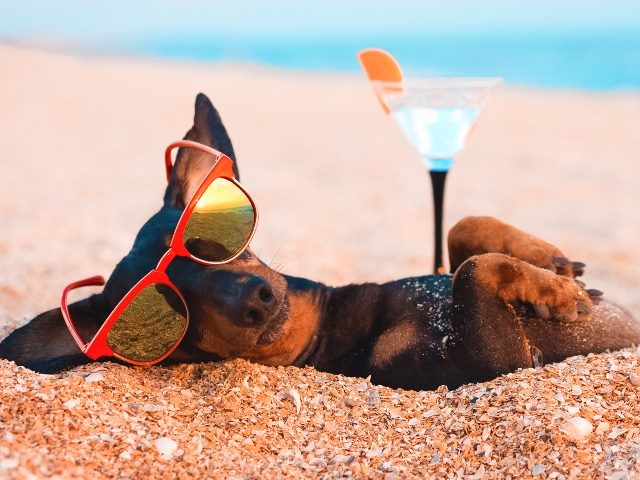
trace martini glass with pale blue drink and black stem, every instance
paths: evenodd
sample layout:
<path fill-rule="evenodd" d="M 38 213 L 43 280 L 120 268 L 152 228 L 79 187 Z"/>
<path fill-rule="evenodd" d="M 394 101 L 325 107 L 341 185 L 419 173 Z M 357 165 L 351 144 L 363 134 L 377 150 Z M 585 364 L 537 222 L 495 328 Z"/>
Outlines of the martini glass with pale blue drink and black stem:
<path fill-rule="evenodd" d="M 372 81 L 378 98 L 420 155 L 431 177 L 434 211 L 434 273 L 444 273 L 442 216 L 444 186 L 454 157 L 464 148 L 487 94 L 498 78 L 423 78 Z"/>

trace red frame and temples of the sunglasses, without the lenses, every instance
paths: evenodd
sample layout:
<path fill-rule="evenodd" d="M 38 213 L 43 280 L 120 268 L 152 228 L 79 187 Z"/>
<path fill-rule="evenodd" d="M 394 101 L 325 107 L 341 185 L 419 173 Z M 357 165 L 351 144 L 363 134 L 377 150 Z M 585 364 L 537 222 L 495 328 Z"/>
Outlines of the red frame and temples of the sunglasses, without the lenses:
<path fill-rule="evenodd" d="M 67 297 L 69 292 L 76 288 L 104 285 L 105 284 L 104 277 L 98 275 L 98 276 L 86 278 L 84 280 L 79 280 L 77 282 L 73 282 L 69 284 L 67 287 L 65 287 L 65 289 L 62 292 L 62 298 L 60 299 L 60 308 L 62 310 L 62 316 L 64 317 L 64 321 L 67 324 L 67 327 L 69 328 L 69 332 L 71 332 L 71 336 L 73 337 L 75 342 L 78 344 L 78 347 L 80 348 L 82 353 L 84 353 L 87 357 L 91 358 L 92 360 L 97 360 L 98 358 L 101 358 L 101 357 L 115 357 L 127 363 L 131 363 L 133 365 L 149 366 L 149 365 L 153 365 L 158 362 L 161 362 L 162 360 L 167 358 L 169 355 L 171 355 L 171 353 L 173 353 L 173 351 L 178 347 L 178 345 L 184 338 L 184 335 L 186 334 L 187 328 L 189 326 L 189 309 L 187 307 L 187 302 L 185 301 L 184 297 L 182 296 L 178 288 L 171 282 L 171 280 L 166 274 L 166 270 L 171 264 L 171 262 L 173 261 L 173 259 L 176 257 L 186 257 L 198 263 L 201 263 L 203 265 L 221 265 L 224 263 L 228 263 L 236 259 L 238 256 L 242 254 L 242 252 L 244 252 L 244 250 L 247 248 L 247 246 L 251 242 L 253 235 L 255 234 L 256 226 L 258 224 L 258 209 L 256 207 L 255 202 L 253 201 L 253 198 L 251 198 L 251 195 L 249 195 L 249 193 L 244 188 L 242 188 L 242 186 L 236 181 L 235 174 L 233 172 L 233 160 L 231 160 L 224 153 L 219 152 L 214 148 L 211 148 L 207 145 L 203 145 L 198 142 L 193 142 L 191 140 L 180 140 L 177 142 L 173 142 L 169 144 L 169 146 L 167 146 L 167 148 L 165 149 L 165 168 L 167 172 L 167 180 L 171 178 L 171 172 L 173 169 L 171 153 L 175 148 L 178 148 L 178 147 L 195 148 L 205 153 L 209 153 L 216 157 L 216 161 L 211 167 L 211 170 L 209 170 L 209 173 L 207 174 L 207 176 L 204 178 L 204 180 L 202 180 L 202 182 L 200 183 L 200 186 L 194 193 L 191 200 L 189 200 L 189 203 L 187 204 L 184 211 L 180 215 L 180 219 L 176 224 L 176 228 L 171 238 L 171 242 L 169 242 L 169 249 L 160 258 L 160 261 L 158 262 L 158 265 L 156 266 L 156 268 L 154 268 L 149 273 L 147 273 L 133 287 L 131 287 L 131 289 L 114 307 L 114 309 L 108 315 L 107 319 L 103 322 L 102 326 L 98 329 L 98 332 L 93 336 L 93 338 L 89 343 L 84 342 L 84 340 L 80 336 L 80 333 L 76 329 L 76 326 L 73 323 L 73 320 L 71 319 L 69 306 L 67 304 Z M 246 195 L 246 197 L 251 202 L 251 206 L 253 208 L 254 221 L 253 221 L 253 228 L 251 229 L 251 232 L 247 236 L 245 243 L 242 245 L 242 247 L 240 247 L 240 249 L 238 249 L 235 255 L 223 261 L 212 262 L 212 261 L 203 260 L 189 253 L 186 246 L 184 245 L 182 237 L 184 235 L 184 230 L 187 224 L 189 223 L 189 218 L 191 218 L 191 214 L 196 208 L 196 204 L 198 203 L 198 200 L 200 200 L 200 198 L 202 197 L 204 192 L 207 190 L 207 188 L 209 188 L 209 186 L 217 178 L 224 178 L 233 182 L 236 185 L 236 187 L 238 187 Z M 149 361 L 140 361 L 140 360 L 134 360 L 131 358 L 126 358 L 123 355 L 120 355 L 117 352 L 114 352 L 111 349 L 111 347 L 109 347 L 109 345 L 107 344 L 107 336 L 109 335 L 109 332 L 111 331 L 113 326 L 116 324 L 117 320 L 120 318 L 122 313 L 129 306 L 129 304 L 138 296 L 138 294 L 142 290 L 144 290 L 146 287 L 153 284 L 162 284 L 162 285 L 168 286 L 178 295 L 178 297 L 182 301 L 185 307 L 185 312 L 186 312 L 186 322 L 185 322 L 184 331 L 182 332 L 182 335 L 180 336 L 180 338 L 176 340 L 175 344 L 161 357 L 158 357 L 156 359 L 149 360 Z"/>

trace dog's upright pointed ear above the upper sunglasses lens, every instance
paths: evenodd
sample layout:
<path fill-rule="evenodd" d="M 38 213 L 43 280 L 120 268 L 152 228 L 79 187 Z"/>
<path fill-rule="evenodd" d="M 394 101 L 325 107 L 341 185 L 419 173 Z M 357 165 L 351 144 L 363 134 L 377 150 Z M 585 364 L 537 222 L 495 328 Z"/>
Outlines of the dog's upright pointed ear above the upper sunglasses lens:
<path fill-rule="evenodd" d="M 230 157 L 233 160 L 236 178 L 240 178 L 231 139 L 218 111 L 204 93 L 199 93 L 196 97 L 193 126 L 184 138 L 213 147 Z M 165 204 L 178 209 L 184 208 L 211 169 L 211 161 L 210 155 L 181 148 L 171 173 L 164 198 Z"/>

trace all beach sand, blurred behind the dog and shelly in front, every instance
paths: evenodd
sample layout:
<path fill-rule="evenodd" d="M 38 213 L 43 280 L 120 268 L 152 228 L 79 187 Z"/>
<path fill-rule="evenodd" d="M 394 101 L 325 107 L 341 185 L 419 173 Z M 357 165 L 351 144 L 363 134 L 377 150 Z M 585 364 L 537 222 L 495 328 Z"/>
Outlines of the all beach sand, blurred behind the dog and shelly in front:
<path fill-rule="evenodd" d="M 0 65 L 0 338 L 56 307 L 67 283 L 108 275 L 127 253 L 161 205 L 163 149 L 190 127 L 200 91 L 221 113 L 242 184 L 258 204 L 252 248 L 264 261 L 331 285 L 430 273 L 428 177 L 360 75 L 13 45 L 0 45 Z M 638 125 L 638 94 L 501 88 L 449 175 L 446 227 L 465 215 L 493 215 L 527 230 L 585 262 L 590 288 L 640 315 Z M 640 354 L 623 353 L 449 393 L 243 361 L 96 364 L 57 376 L 2 361 L 0 476 L 128 476 L 141 465 L 138 476 L 158 468 L 163 476 L 220 478 L 640 475 L 640 387 L 630 380 L 640 374 Z M 102 379 L 85 382 L 95 370 Z M 572 395 L 576 385 L 586 393 Z M 477 414 L 460 413 L 460 428 L 422 415 L 434 406 L 454 415 L 490 386 L 509 402 L 500 403 L 504 418 L 500 409 L 489 413 L 496 421 L 479 430 L 491 396 Z M 370 405 L 372 389 L 380 401 Z M 316 391 L 326 398 L 314 404 Z M 562 401 L 547 398 L 552 392 L 564 392 Z M 546 411 L 532 408 L 536 398 Z M 322 413 L 322 402 L 332 410 Z M 191 408 L 177 408 L 183 404 Z M 315 421 L 324 415 L 335 417 L 332 428 Z M 558 430 L 573 415 L 609 426 L 573 444 Z M 502 433 L 484 435 L 489 427 Z M 526 441 L 505 443 L 511 427 Z M 178 442 L 169 460 L 155 448 L 160 437 Z M 479 442 L 494 442 L 493 453 L 479 455 Z"/>

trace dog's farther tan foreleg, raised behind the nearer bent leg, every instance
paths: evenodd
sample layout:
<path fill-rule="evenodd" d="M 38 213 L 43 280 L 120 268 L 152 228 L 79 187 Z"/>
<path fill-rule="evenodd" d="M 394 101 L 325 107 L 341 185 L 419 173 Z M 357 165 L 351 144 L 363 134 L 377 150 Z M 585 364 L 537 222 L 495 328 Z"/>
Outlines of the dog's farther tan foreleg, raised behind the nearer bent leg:
<path fill-rule="evenodd" d="M 447 240 L 451 272 L 474 255 L 504 253 L 559 275 L 584 273 L 582 262 L 569 261 L 554 245 L 493 217 L 465 217 L 449 230 Z"/>

